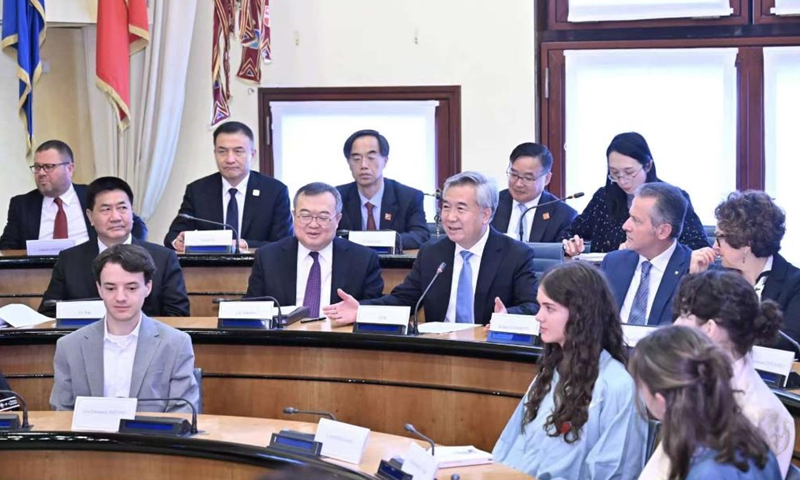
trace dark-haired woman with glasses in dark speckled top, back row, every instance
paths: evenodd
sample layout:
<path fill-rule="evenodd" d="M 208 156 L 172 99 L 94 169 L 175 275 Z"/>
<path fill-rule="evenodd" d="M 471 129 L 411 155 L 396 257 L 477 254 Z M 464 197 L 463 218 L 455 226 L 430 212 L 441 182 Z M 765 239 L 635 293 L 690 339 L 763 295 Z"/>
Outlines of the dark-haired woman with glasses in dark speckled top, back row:
<path fill-rule="evenodd" d="M 608 177 L 605 187 L 595 192 L 583 213 L 575 217 L 564 232 L 564 251 L 573 257 L 583 252 L 584 241 L 591 241 L 592 252 L 611 252 L 625 248 L 622 225 L 628 219 L 633 193 L 643 183 L 660 182 L 650 147 L 643 136 L 635 132 L 620 133 L 606 149 Z M 687 200 L 689 195 L 683 192 Z M 708 247 L 703 224 L 689 201 L 689 211 L 683 221 L 683 233 L 678 239 L 696 250 Z"/>

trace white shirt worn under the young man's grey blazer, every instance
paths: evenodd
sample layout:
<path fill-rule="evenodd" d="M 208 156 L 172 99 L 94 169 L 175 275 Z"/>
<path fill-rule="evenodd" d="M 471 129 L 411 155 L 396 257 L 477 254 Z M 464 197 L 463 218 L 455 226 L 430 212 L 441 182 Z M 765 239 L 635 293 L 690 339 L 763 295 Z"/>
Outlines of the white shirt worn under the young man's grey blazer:
<path fill-rule="evenodd" d="M 130 397 L 133 360 L 139 344 L 139 327 L 142 317 L 139 314 L 136 328 L 128 335 L 112 335 L 108 323 L 103 319 L 103 396 Z"/>

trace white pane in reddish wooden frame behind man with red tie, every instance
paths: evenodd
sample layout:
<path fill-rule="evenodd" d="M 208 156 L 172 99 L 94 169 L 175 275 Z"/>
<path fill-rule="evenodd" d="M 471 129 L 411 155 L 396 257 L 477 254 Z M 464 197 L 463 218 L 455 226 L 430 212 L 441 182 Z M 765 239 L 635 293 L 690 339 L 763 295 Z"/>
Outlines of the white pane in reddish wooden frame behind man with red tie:
<path fill-rule="evenodd" d="M 353 181 L 342 148 L 357 130 L 377 130 L 389 141 L 384 176 L 423 192 L 436 190 L 436 101 L 272 102 L 275 178 L 294 196 L 303 185 Z M 435 203 L 425 199 L 433 221 Z"/>

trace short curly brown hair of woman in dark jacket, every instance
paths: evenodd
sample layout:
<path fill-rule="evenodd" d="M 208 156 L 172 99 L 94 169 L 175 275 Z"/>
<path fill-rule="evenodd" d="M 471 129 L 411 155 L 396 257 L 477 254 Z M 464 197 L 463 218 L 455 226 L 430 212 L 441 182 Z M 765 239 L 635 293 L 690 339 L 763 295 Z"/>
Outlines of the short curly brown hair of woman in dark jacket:
<path fill-rule="evenodd" d="M 733 192 L 714 210 L 717 227 L 733 248 L 750 246 L 753 255 L 767 258 L 781 249 L 786 214 L 764 192 Z"/>

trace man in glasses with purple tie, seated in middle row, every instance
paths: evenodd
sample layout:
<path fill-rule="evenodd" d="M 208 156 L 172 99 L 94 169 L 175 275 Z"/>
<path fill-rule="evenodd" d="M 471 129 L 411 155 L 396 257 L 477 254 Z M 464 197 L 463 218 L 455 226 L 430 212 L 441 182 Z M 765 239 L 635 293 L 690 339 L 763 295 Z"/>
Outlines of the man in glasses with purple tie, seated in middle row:
<path fill-rule="evenodd" d="M 294 237 L 259 248 L 245 297 L 275 297 L 309 307 L 309 317 L 337 302 L 338 289 L 358 299 L 383 292 L 375 251 L 336 237 L 342 198 L 336 188 L 309 183 L 294 196 Z"/>

